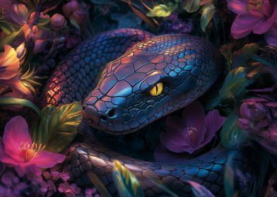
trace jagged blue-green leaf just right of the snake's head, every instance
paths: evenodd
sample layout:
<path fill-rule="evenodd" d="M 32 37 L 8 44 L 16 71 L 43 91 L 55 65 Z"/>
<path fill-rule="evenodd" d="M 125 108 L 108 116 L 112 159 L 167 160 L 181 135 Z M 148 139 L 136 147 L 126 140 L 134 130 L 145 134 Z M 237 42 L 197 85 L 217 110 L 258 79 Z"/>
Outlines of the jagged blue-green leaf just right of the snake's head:
<path fill-rule="evenodd" d="M 239 67 L 231 70 L 225 78 L 225 82 L 219 91 L 219 96 L 213 99 L 207 108 L 214 108 L 225 100 L 239 100 L 246 91 L 245 87 L 250 83 L 252 83 L 252 80 L 247 78 L 245 68 Z"/>

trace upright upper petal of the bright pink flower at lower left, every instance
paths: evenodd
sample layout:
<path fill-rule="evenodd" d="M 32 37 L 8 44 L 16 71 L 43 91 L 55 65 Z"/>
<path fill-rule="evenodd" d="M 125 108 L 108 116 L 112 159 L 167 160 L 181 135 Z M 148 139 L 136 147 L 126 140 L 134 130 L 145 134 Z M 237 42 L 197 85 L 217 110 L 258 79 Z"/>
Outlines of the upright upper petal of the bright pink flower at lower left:
<path fill-rule="evenodd" d="M 5 152 L 17 162 L 22 161 L 19 156 L 19 147 L 22 142 L 32 145 L 32 140 L 28 133 L 28 125 L 20 115 L 11 118 L 6 124 L 3 135 Z"/>

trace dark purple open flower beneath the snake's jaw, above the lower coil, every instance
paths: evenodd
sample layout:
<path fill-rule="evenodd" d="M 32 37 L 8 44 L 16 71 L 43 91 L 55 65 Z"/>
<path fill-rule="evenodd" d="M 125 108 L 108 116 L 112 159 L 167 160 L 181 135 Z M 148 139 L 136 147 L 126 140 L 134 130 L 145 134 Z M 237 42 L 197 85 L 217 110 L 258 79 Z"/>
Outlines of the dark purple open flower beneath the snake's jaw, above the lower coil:
<path fill-rule="evenodd" d="M 183 110 L 182 118 L 167 117 L 167 132 L 160 135 L 160 141 L 168 151 L 192 154 L 208 144 L 224 122 L 225 117 L 218 110 L 211 110 L 205 116 L 204 108 L 194 101 Z M 157 160 L 161 153 L 155 153 Z"/>

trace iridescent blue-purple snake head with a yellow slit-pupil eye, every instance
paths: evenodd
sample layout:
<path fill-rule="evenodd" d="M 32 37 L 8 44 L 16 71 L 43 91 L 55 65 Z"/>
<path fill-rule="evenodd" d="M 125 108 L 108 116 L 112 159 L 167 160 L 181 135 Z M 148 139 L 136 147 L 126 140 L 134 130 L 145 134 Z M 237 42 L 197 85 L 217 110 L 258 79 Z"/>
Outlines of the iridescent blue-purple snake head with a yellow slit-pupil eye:
<path fill-rule="evenodd" d="M 107 64 L 83 103 L 85 120 L 96 129 L 126 134 L 186 106 L 216 80 L 213 53 L 204 40 L 183 34 L 136 44 Z"/>

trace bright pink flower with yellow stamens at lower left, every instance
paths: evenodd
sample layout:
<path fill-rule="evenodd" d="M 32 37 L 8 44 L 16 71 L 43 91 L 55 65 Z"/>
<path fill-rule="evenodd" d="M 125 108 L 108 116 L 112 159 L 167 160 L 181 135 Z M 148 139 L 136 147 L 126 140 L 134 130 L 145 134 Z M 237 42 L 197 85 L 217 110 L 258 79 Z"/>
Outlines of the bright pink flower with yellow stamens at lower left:
<path fill-rule="evenodd" d="M 21 116 L 13 117 L 5 127 L 3 139 L 0 137 L 0 161 L 8 165 L 41 168 L 62 163 L 65 155 L 43 151 L 45 146 L 35 144 L 28 134 L 28 125 Z"/>

